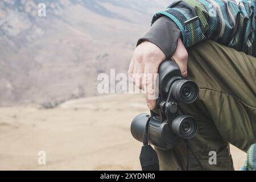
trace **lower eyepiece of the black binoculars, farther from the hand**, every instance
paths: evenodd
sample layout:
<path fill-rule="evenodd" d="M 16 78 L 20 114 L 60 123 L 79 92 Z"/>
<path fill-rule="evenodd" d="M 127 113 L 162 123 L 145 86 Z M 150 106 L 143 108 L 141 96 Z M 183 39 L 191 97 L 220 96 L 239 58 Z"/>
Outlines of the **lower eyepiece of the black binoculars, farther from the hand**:
<path fill-rule="evenodd" d="M 197 133 L 196 119 L 189 115 L 179 115 L 172 121 L 171 130 L 181 138 L 193 138 Z"/>

